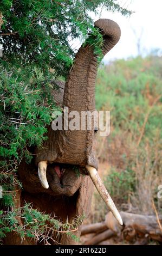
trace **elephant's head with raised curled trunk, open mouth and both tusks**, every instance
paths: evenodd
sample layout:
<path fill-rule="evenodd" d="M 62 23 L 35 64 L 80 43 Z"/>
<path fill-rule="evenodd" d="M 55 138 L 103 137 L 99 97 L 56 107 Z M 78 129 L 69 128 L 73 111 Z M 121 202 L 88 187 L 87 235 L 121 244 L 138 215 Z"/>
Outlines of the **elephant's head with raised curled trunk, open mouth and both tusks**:
<path fill-rule="evenodd" d="M 120 28 L 114 21 L 107 19 L 96 21 L 95 27 L 100 29 L 103 36 L 102 53 L 105 55 L 118 42 Z M 95 111 L 97 69 L 98 60 L 93 45 L 81 46 L 64 87 L 62 106 L 68 107 L 69 113 L 75 111 L 81 117 L 82 111 L 89 111 L 90 113 Z M 64 120 L 65 117 L 63 117 Z M 98 166 L 93 145 L 95 130 L 63 129 L 54 131 L 50 126 L 47 136 L 48 140 L 44 142 L 43 147 L 37 148 L 35 152 L 35 164 L 38 168 L 38 176 L 42 186 L 48 189 L 50 184 L 51 190 L 53 192 L 57 191 L 57 194 L 59 194 L 59 191 L 63 194 L 74 194 L 73 188 L 69 190 L 69 184 L 71 184 L 70 187 L 73 187 L 72 183 L 75 182 L 70 179 L 68 168 L 70 166 L 73 169 L 72 166 L 77 165 L 82 172 L 86 169 L 86 174 L 92 179 L 101 197 L 119 223 L 122 224 L 120 214 L 97 172 Z M 80 183 L 77 182 L 75 191 L 79 187 Z"/>

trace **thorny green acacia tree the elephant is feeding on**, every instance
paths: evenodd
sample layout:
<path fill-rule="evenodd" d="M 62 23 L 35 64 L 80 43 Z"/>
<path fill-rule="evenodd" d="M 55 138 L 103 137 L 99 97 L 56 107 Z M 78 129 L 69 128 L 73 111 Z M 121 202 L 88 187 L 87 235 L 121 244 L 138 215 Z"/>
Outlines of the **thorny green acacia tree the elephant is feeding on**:
<path fill-rule="evenodd" d="M 76 38 L 94 44 L 99 60 L 102 36 L 93 27 L 90 11 L 99 8 L 129 15 L 116 0 L 2 0 L 0 6 L 0 182 L 3 187 L 0 211 L 0 239 L 16 230 L 19 234 L 34 235 L 50 220 L 29 205 L 21 209 L 30 228 L 23 230 L 13 211 L 18 163 L 32 159 L 28 147 L 41 145 L 46 139 L 46 125 L 57 108 L 50 90 L 55 79 L 66 80 L 73 65 Z M 87 37 L 87 35 L 89 35 Z M 94 40 L 95 38 L 95 40 Z M 3 217 L 7 216 L 7 218 Z M 29 219 L 37 218 L 37 229 Z M 59 227 L 53 220 L 53 225 Z"/>

